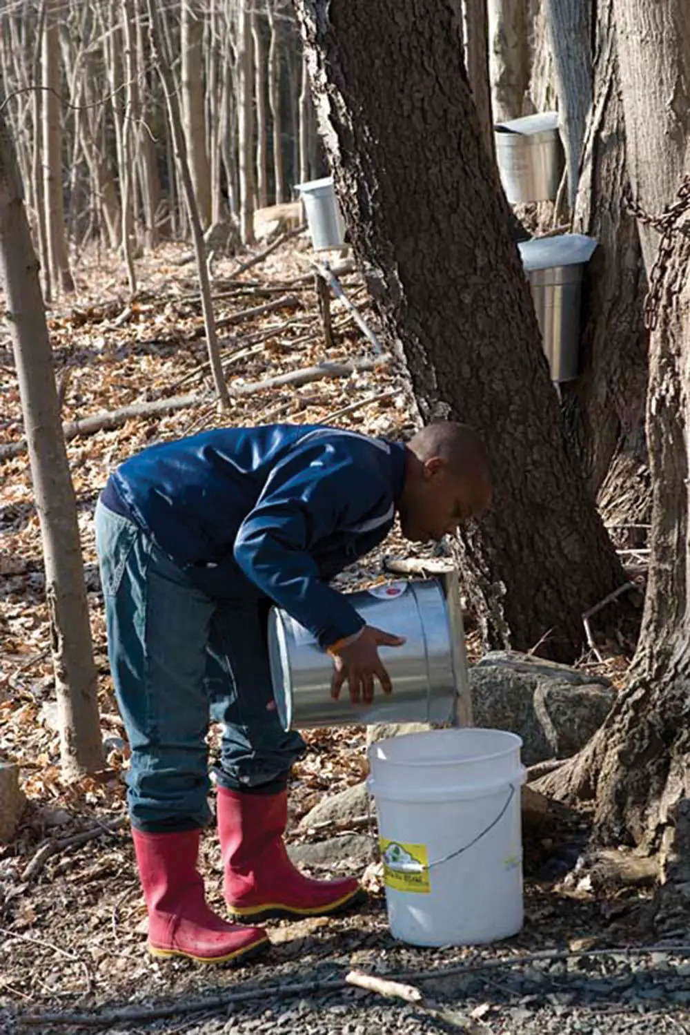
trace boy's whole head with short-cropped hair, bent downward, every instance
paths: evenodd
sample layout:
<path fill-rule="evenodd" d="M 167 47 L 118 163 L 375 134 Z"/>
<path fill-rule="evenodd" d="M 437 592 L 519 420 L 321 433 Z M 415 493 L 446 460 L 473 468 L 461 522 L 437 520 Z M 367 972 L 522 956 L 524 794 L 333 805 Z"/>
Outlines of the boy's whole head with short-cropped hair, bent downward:
<path fill-rule="evenodd" d="M 491 505 L 486 450 L 467 424 L 427 424 L 407 443 L 400 527 L 415 542 L 454 535 Z"/>

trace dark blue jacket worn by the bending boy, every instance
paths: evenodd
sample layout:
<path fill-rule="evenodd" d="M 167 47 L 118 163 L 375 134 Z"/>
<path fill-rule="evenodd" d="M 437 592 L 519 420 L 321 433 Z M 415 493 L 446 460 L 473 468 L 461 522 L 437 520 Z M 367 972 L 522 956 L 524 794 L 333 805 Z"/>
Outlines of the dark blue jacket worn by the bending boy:
<path fill-rule="evenodd" d="M 400 443 L 272 424 L 151 446 L 101 499 L 210 596 L 269 597 L 327 647 L 363 624 L 327 580 L 383 541 L 403 480 Z"/>

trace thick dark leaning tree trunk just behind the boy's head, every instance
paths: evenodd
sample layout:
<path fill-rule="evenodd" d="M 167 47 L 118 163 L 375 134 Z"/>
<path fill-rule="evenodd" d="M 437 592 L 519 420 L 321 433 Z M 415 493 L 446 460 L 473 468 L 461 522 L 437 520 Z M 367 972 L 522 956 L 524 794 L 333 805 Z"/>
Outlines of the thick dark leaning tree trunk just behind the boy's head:
<path fill-rule="evenodd" d="M 569 454 L 453 0 L 300 0 L 322 137 L 355 254 L 425 420 L 487 443 L 494 506 L 461 536 L 491 645 L 572 658 L 623 582 Z M 385 35 L 378 31 L 382 14 Z"/>

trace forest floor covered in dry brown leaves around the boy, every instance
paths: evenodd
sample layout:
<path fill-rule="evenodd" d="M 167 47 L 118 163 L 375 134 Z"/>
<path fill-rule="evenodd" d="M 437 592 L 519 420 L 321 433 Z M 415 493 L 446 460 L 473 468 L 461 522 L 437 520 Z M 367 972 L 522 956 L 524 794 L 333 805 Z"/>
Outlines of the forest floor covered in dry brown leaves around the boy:
<path fill-rule="evenodd" d="M 181 248 L 167 246 L 138 260 L 141 288 L 131 305 L 122 269 L 111 260 L 84 257 L 76 271 L 77 294 L 50 313 L 65 421 L 210 391 L 193 266 L 180 266 L 181 255 Z M 239 277 L 238 260 L 215 264 L 215 313 L 224 321 L 219 333 L 231 386 L 325 359 L 373 355 L 338 301 L 332 305 L 334 346 L 326 350 L 310 258 L 303 235 Z M 376 326 L 359 278 L 348 275 L 343 286 Z M 270 309 L 246 312 L 267 303 Z M 0 372 L 1 445 L 22 436 L 11 348 L 2 326 Z M 107 746 L 107 769 L 71 785 L 59 769 L 28 460 L 0 462 L 0 760 L 19 763 L 28 799 L 14 839 L 0 846 L 0 1032 L 690 1032 L 690 949 L 626 954 L 650 945 L 652 890 L 578 879 L 586 815 L 554 820 L 552 829 L 526 842 L 526 924 L 501 944 L 417 949 L 395 941 L 373 870 L 361 912 L 272 925 L 271 955 L 251 967 L 205 969 L 154 960 L 145 952 L 145 910 L 124 822 L 128 752 L 109 676 L 94 553 L 98 493 L 118 463 L 154 440 L 221 423 L 273 420 L 331 421 L 396 438 L 412 432 L 413 414 L 401 367 L 379 363 L 350 378 L 238 395 L 222 416 L 206 402 L 68 443 Z M 409 557 L 411 550 L 393 533 L 380 552 L 343 574 L 341 586 L 387 578 L 387 555 Z M 478 635 L 471 630 L 468 639 L 476 657 Z M 581 663 L 594 667 L 589 656 Z M 619 686 L 626 664 L 625 657 L 607 659 Z M 366 771 L 361 728 L 312 731 L 306 739 L 309 753 L 296 767 L 291 792 L 293 842 L 303 838 L 295 821 Z M 203 869 L 209 899 L 221 910 L 211 832 Z M 601 950 L 610 951 L 597 955 Z M 535 952 L 546 954 L 530 958 Z M 408 983 L 420 983 L 424 999 L 406 1003 L 346 985 L 353 967 L 404 974 Z"/>

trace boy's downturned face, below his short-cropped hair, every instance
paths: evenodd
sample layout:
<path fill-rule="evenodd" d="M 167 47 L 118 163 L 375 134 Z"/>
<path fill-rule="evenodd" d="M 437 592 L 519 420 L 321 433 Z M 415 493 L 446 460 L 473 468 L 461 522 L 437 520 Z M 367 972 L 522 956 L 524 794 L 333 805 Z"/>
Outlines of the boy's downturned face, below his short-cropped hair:
<path fill-rule="evenodd" d="M 425 461 L 406 483 L 400 502 L 400 528 L 413 542 L 439 541 L 455 535 L 471 518 L 491 505 L 491 485 L 482 474 L 458 478 L 439 456 Z"/>

